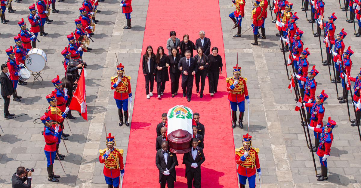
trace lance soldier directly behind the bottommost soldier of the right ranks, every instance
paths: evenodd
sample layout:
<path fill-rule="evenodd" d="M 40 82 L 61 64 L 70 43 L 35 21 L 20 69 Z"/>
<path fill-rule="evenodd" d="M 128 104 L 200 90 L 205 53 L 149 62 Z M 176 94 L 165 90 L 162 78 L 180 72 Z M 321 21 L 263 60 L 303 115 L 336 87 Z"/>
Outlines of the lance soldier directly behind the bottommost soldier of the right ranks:
<path fill-rule="evenodd" d="M 311 108 L 310 110 L 310 126 L 320 128 L 323 127 L 323 116 L 325 115 L 325 107 L 323 107 L 323 102 L 328 98 L 329 96 L 325 93 L 325 90 L 322 90 L 321 94 L 316 97 L 316 100 L 312 103 L 305 103 L 305 107 Z M 315 137 L 315 146 L 313 146 L 313 152 L 317 151 L 319 139 L 321 138 L 321 134 L 318 132 L 313 132 Z"/>

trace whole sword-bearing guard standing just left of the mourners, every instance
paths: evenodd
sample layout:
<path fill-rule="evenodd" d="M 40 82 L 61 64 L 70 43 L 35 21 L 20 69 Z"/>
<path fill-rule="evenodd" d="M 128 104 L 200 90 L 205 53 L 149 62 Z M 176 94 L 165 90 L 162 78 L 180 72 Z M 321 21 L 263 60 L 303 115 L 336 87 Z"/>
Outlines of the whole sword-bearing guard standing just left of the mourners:
<path fill-rule="evenodd" d="M 111 77 L 112 83 L 110 88 L 114 90 L 114 99 L 118 107 L 119 115 L 119 127 L 123 125 L 123 111 L 124 110 L 124 121 L 128 126 L 128 99 L 132 102 L 132 90 L 130 86 L 130 76 L 124 75 L 124 66 L 120 63 L 117 66 L 117 76 Z"/>

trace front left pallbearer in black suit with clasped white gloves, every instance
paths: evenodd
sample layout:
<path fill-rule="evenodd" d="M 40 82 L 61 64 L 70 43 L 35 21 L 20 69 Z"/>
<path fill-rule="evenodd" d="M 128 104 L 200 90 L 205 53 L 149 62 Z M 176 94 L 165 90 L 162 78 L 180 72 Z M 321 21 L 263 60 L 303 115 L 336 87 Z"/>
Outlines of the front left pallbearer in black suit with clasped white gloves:
<path fill-rule="evenodd" d="M 168 183 L 168 188 L 174 187 L 174 182 L 177 182 L 175 175 L 175 166 L 178 166 L 177 155 L 169 151 L 168 141 L 162 141 L 162 148 L 157 151 L 156 165 L 159 170 L 160 187 L 165 188 L 165 183 Z"/>

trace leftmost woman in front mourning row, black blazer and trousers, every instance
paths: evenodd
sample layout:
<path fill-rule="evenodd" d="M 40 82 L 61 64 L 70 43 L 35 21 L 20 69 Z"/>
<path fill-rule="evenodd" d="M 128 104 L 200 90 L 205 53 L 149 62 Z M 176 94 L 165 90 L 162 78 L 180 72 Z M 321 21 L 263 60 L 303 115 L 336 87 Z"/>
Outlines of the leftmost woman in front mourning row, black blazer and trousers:
<path fill-rule="evenodd" d="M 147 47 L 147 51 L 143 55 L 142 69 L 145 77 L 145 94 L 147 94 L 147 98 L 149 99 L 153 96 L 153 85 L 154 85 L 154 77 L 157 73 L 157 64 L 155 63 L 156 55 L 153 53 L 152 46 Z M 151 91 L 149 92 L 149 83 L 151 87 Z"/>

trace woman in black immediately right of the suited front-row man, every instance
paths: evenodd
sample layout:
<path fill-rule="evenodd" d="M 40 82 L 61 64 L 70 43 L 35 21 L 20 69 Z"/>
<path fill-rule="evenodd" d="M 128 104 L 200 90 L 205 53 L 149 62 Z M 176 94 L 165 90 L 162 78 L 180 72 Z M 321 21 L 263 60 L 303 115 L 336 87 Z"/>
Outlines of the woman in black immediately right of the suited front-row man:
<path fill-rule="evenodd" d="M 197 47 L 197 52 L 198 54 L 194 56 L 194 58 L 196 59 L 197 64 L 199 65 L 199 70 L 196 73 L 196 87 L 197 90 L 196 92 L 198 93 L 199 91 L 199 80 L 201 81 L 201 92 L 199 97 L 203 97 L 203 90 L 204 90 L 204 82 L 205 82 L 205 77 L 207 74 L 207 70 L 208 70 L 208 66 L 209 66 L 209 59 L 206 55 L 203 54 L 203 47 L 199 46 Z"/>

